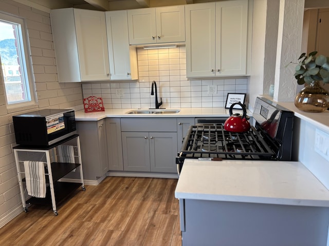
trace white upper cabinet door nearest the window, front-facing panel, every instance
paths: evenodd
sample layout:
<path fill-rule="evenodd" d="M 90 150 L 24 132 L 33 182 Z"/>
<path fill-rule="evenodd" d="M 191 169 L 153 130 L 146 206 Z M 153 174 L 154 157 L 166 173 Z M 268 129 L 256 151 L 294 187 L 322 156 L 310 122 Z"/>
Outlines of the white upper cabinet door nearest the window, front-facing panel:
<path fill-rule="evenodd" d="M 82 81 L 108 80 L 105 13 L 74 9 Z"/>

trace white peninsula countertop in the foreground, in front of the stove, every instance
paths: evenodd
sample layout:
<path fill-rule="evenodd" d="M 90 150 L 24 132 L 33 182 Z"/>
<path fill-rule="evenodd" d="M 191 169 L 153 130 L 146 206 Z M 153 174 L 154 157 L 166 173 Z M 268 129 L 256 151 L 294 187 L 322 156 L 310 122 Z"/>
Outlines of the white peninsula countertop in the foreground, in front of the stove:
<path fill-rule="evenodd" d="M 294 161 L 185 159 L 175 197 L 329 207 L 329 191 Z"/>

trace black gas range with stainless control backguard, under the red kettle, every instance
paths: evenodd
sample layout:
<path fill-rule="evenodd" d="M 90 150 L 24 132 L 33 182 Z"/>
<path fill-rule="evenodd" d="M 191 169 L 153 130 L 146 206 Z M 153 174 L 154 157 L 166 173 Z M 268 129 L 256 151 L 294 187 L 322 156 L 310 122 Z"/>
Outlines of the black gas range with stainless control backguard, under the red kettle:
<path fill-rule="evenodd" d="M 254 126 L 246 132 L 229 132 L 223 125 L 191 126 L 176 157 L 178 173 L 186 158 L 291 160 L 294 113 L 257 97 Z"/>

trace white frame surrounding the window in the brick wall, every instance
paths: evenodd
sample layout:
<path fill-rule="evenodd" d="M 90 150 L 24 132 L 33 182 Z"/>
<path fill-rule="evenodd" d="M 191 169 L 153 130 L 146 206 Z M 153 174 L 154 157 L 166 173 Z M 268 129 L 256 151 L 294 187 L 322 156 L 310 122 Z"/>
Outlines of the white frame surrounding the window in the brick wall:
<path fill-rule="evenodd" d="M 3 73 L 2 73 L 2 67 L 1 67 L 1 63 L 0 63 L 0 75 L 1 75 L 0 79 L 1 79 L 2 86 L 3 86 L 4 94 L 6 97 L 5 101 L 6 101 L 7 110 L 15 111 L 14 109 L 17 109 L 17 108 L 22 109 L 22 107 L 37 106 L 36 105 L 36 94 L 35 94 L 36 93 L 35 81 L 34 81 L 34 76 L 32 73 L 33 70 L 31 67 L 31 64 L 32 64 L 31 51 L 30 51 L 30 44 L 29 44 L 29 39 L 27 36 L 27 31 L 26 31 L 27 30 L 26 23 L 23 18 L 15 17 L 15 16 L 8 15 L 5 13 L 0 13 L 0 21 L 7 22 L 8 24 L 12 23 L 14 25 L 19 24 L 21 26 L 21 28 L 20 28 L 21 30 L 19 30 L 19 37 L 16 37 L 16 39 L 19 39 L 20 45 L 23 46 L 21 48 L 23 48 L 24 53 L 20 49 L 20 52 L 21 52 L 20 55 L 22 56 L 22 54 L 24 54 L 24 57 L 20 57 L 21 58 L 20 66 L 21 66 L 22 74 L 24 73 L 23 76 L 25 77 L 25 80 L 26 79 L 28 80 L 28 81 L 25 81 L 25 83 L 28 82 L 28 83 L 26 83 L 25 88 L 26 88 L 26 86 L 28 86 L 28 91 L 30 93 L 30 100 L 8 104 L 6 86 L 5 86 L 5 81 L 4 81 Z M 0 57 L 0 62 L 1 62 L 1 57 Z M 30 107 L 28 107 L 28 108 L 30 108 Z"/>

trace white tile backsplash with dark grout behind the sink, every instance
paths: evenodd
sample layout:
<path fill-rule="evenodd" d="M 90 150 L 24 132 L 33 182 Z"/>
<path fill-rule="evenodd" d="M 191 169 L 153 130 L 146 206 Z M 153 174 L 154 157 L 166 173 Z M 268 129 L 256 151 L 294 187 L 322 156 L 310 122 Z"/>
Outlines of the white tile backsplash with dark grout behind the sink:
<path fill-rule="evenodd" d="M 138 80 L 82 84 L 83 97 L 103 98 L 105 109 L 154 108 L 155 80 L 161 108 L 224 107 L 227 93 L 247 93 L 247 78 L 188 80 L 185 46 L 171 49 L 137 48 Z M 208 86 L 215 93 L 208 93 Z"/>

